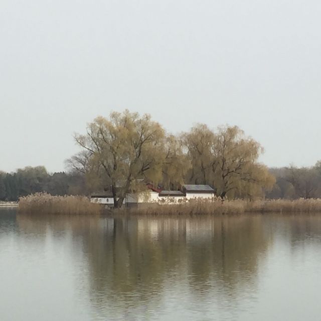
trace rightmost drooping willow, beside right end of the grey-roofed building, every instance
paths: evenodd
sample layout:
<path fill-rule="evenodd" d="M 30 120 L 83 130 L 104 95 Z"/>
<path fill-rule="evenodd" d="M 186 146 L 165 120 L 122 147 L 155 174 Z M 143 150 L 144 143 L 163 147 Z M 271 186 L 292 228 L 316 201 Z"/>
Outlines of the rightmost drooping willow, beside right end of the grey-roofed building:
<path fill-rule="evenodd" d="M 217 194 L 254 197 L 275 182 L 267 168 L 258 163 L 261 145 L 237 126 L 221 127 L 213 141 L 212 173 Z"/>

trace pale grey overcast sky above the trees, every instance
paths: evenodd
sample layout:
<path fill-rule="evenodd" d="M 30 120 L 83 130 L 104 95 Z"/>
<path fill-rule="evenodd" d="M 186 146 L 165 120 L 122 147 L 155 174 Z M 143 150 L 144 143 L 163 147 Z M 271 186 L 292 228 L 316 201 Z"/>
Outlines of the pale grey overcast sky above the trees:
<path fill-rule="evenodd" d="M 0 170 L 64 169 L 110 111 L 240 126 L 268 166 L 321 159 L 317 0 L 1 0 Z"/>

